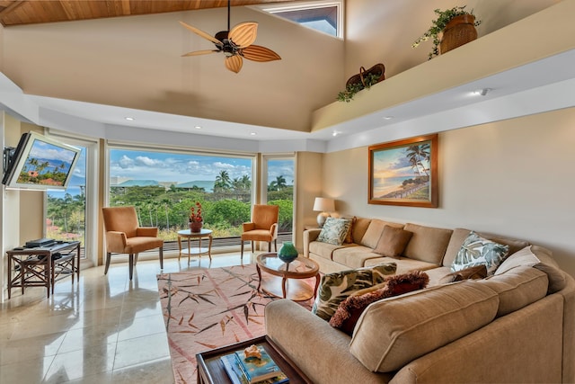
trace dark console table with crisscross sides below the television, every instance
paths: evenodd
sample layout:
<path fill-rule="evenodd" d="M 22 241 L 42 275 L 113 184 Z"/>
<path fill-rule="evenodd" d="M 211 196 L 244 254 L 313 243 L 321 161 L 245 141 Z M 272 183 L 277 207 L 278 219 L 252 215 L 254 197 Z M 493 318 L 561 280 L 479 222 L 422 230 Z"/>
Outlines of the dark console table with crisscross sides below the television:
<path fill-rule="evenodd" d="M 80 242 L 57 242 L 52 246 L 34 248 L 17 247 L 6 251 L 8 255 L 8 299 L 13 287 L 46 287 L 54 293 L 54 284 L 74 274 L 80 281 Z"/>

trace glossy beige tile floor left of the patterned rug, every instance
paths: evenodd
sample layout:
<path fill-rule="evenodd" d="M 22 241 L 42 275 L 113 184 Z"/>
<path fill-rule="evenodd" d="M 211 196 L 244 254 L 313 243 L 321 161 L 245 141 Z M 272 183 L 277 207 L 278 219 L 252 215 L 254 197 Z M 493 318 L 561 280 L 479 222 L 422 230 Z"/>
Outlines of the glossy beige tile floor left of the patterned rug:
<path fill-rule="evenodd" d="M 244 255 L 253 263 L 255 255 Z M 164 260 L 164 272 L 241 263 L 239 253 Z M 0 308 L 0 383 L 173 383 L 155 261 L 83 270 L 58 281 L 54 295 L 28 288 Z"/>

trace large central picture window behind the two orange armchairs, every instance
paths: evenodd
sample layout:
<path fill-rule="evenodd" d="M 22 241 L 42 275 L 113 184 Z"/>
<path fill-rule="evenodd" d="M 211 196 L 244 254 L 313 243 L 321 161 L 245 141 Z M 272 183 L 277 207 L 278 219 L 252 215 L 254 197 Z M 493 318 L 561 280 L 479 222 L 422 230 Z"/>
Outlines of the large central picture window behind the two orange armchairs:
<path fill-rule="evenodd" d="M 199 202 L 204 227 L 239 244 L 251 216 L 254 156 L 111 147 L 109 158 L 110 206 L 134 205 L 140 225 L 175 240 Z"/>

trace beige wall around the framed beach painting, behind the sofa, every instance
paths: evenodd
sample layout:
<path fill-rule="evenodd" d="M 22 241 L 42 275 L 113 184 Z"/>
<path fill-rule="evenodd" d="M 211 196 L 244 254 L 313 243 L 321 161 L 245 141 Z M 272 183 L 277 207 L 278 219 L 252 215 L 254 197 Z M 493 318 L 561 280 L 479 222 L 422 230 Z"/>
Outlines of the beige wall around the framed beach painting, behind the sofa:
<path fill-rule="evenodd" d="M 523 238 L 575 276 L 574 126 L 570 108 L 441 133 L 438 209 L 367 204 L 367 147 L 324 155 L 323 192 L 343 215 Z"/>

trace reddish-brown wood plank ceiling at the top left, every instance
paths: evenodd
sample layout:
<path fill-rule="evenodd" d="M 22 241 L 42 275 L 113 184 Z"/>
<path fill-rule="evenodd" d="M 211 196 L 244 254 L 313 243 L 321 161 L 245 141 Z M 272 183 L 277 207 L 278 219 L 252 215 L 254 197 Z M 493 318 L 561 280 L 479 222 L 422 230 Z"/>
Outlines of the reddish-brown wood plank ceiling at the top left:
<path fill-rule="evenodd" d="M 231 4 L 242 6 L 290 1 L 294 0 L 232 0 Z M 0 0 L 0 22 L 4 27 L 9 27 L 225 6 L 226 0 Z"/>

